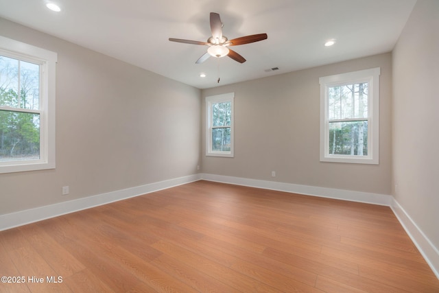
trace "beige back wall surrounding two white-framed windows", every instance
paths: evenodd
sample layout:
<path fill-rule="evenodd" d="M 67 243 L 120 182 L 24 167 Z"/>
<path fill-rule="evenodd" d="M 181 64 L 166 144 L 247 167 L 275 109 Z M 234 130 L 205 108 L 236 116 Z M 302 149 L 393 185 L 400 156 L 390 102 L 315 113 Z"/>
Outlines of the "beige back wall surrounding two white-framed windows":
<path fill-rule="evenodd" d="M 235 157 L 204 155 L 203 123 L 202 172 L 390 194 L 391 62 L 382 54 L 203 90 L 203 122 L 204 97 L 235 92 Z M 379 165 L 320 162 L 319 78 L 374 67 L 381 67 Z"/>

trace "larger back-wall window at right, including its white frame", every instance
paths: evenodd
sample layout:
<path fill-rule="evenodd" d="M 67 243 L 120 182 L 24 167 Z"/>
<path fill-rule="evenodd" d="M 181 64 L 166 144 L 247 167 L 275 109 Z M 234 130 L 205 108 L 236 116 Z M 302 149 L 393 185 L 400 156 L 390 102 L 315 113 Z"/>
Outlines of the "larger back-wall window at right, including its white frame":
<path fill-rule="evenodd" d="M 320 78 L 320 161 L 379 163 L 379 74 Z"/>

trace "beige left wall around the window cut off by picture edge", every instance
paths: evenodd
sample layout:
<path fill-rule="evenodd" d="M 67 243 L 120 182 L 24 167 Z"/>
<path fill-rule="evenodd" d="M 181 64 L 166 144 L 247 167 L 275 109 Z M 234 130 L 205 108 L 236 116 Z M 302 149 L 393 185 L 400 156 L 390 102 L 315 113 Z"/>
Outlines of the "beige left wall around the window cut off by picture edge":
<path fill-rule="evenodd" d="M 200 90 L 4 19 L 0 34 L 58 53 L 56 169 L 0 174 L 0 215 L 197 173 Z"/>

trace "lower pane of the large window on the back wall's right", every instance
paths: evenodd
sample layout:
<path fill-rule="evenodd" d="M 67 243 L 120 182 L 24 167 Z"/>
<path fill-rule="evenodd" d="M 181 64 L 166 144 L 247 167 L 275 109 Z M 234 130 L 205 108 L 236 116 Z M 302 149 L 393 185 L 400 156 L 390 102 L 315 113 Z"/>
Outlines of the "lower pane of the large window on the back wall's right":
<path fill-rule="evenodd" d="M 329 154 L 368 155 L 368 121 L 330 122 Z"/>

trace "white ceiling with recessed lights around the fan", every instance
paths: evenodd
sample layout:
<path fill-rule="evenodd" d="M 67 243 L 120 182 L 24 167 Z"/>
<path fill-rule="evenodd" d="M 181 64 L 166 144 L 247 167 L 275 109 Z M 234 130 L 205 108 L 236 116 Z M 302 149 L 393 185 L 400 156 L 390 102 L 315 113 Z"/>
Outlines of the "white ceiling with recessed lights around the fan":
<path fill-rule="evenodd" d="M 47 2 L 0 0 L 0 16 L 206 89 L 391 51 L 416 0 L 53 0 L 58 13 Z M 243 64 L 211 57 L 196 65 L 206 46 L 168 38 L 206 41 L 209 12 L 229 39 L 268 39 L 233 47 Z M 331 38 L 337 43 L 324 47 Z"/>

